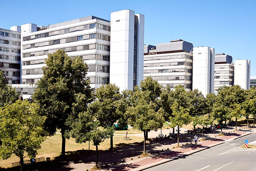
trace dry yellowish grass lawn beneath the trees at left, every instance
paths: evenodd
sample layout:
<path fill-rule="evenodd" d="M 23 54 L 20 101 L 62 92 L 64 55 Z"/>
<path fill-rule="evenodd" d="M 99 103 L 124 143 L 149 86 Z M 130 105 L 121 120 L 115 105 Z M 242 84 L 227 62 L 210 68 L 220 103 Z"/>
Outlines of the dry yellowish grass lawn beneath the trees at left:
<path fill-rule="evenodd" d="M 113 137 L 114 147 L 143 141 L 143 137 L 129 136 L 131 140 L 123 140 L 123 137 L 124 137 L 123 135 L 114 135 Z M 56 134 L 54 136 L 47 137 L 47 139 L 42 143 L 42 148 L 38 150 L 38 155 L 36 156 L 36 158 L 45 157 L 46 159 L 46 157 L 51 157 L 51 159 L 53 159 L 54 157 L 60 156 L 61 144 L 62 144 L 61 134 Z M 110 139 L 106 139 L 104 142 L 102 142 L 98 146 L 99 150 L 108 149 L 109 147 L 110 147 Z M 79 143 L 76 143 L 73 138 L 66 139 L 67 154 L 71 154 L 72 151 L 74 152 L 76 150 L 81 150 L 82 148 L 84 150 L 88 150 L 88 142 L 79 144 Z M 90 150 L 95 150 L 95 146 L 92 145 L 92 142 L 90 142 Z M 24 160 L 29 160 L 29 158 L 26 157 L 24 158 Z M 0 168 L 12 167 L 11 163 L 19 162 L 19 161 L 20 159 L 13 154 L 7 160 L 0 160 Z"/>

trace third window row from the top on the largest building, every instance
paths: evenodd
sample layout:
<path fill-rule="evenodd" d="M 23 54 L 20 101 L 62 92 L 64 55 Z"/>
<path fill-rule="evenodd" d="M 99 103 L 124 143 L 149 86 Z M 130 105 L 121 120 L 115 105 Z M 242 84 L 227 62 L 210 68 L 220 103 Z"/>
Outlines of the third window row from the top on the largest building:
<path fill-rule="evenodd" d="M 96 49 L 110 51 L 110 46 L 102 45 L 102 44 L 86 44 L 86 45 L 80 45 L 80 46 L 65 47 L 65 48 L 61 48 L 61 49 L 63 49 L 65 52 L 70 52 L 70 51 L 81 51 L 81 50 L 95 49 L 95 46 L 96 46 Z M 23 57 L 47 55 L 48 53 L 54 53 L 56 50 L 58 50 L 58 49 L 23 53 Z M 95 56 L 94 56 L 94 59 L 95 59 Z"/>

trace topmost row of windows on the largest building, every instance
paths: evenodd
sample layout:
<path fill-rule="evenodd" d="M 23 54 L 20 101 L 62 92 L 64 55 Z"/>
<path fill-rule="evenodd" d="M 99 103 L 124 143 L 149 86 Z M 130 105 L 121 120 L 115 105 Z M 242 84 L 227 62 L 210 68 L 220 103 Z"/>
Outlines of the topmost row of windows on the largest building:
<path fill-rule="evenodd" d="M 56 36 L 56 35 L 63 35 L 66 33 L 78 32 L 78 31 L 94 29 L 94 28 L 98 28 L 98 29 L 106 30 L 106 31 L 110 32 L 110 26 L 100 24 L 100 23 L 97 23 L 97 24 L 93 23 L 90 25 L 77 26 L 77 27 L 67 28 L 67 29 L 63 29 L 63 30 L 57 30 L 57 31 L 53 31 L 53 32 L 47 32 L 47 33 L 42 33 L 42 34 L 38 34 L 38 35 L 24 37 L 23 41 L 41 39 L 41 38 L 46 38 L 46 37 L 51 37 L 51 36 Z"/>

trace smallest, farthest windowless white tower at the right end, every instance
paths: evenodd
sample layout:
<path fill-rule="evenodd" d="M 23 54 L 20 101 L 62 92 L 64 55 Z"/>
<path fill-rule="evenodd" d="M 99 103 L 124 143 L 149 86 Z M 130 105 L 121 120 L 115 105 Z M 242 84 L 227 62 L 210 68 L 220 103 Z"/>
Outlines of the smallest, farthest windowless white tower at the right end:
<path fill-rule="evenodd" d="M 243 89 L 250 89 L 251 61 L 247 59 L 234 61 L 234 85 Z"/>

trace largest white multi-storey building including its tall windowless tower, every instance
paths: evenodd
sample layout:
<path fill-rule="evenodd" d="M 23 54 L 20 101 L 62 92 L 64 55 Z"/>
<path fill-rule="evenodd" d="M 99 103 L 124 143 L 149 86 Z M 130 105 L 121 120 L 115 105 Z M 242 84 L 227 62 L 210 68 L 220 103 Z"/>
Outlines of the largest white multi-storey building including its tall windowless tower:
<path fill-rule="evenodd" d="M 133 89 L 143 79 L 144 15 L 122 10 L 111 13 L 111 21 L 112 24 L 89 16 L 49 26 L 22 25 L 21 84 L 13 87 L 23 98 L 30 97 L 33 85 L 43 76 L 42 67 L 48 53 L 63 49 L 68 56 L 81 56 L 87 63 L 92 88 L 111 80 L 120 90 Z"/>

